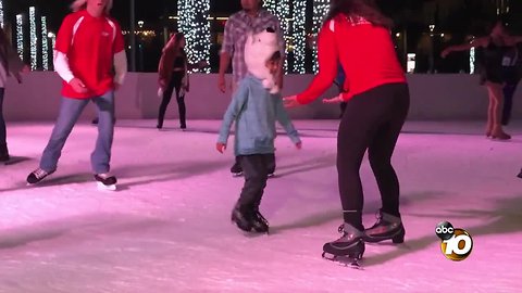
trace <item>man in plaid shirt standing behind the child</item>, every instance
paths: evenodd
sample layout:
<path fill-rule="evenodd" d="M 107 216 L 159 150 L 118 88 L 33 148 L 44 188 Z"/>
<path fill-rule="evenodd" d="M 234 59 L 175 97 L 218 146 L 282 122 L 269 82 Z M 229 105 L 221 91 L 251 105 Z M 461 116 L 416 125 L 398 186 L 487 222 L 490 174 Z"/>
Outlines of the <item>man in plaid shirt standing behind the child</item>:
<path fill-rule="evenodd" d="M 281 51 L 279 69 L 276 74 L 277 86 L 283 88 L 283 64 L 285 60 L 285 40 L 281 29 L 281 23 L 277 17 L 266 10 L 262 9 L 262 0 L 241 0 L 243 10 L 231 15 L 225 24 L 225 34 L 220 56 L 220 74 L 219 88 L 222 92 L 226 92 L 227 82 L 225 72 L 232 60 L 233 80 L 229 84 L 234 92 L 239 81 L 247 75 L 247 65 L 245 64 L 245 42 L 248 34 L 259 34 L 271 27 L 275 30 L 278 38 L 278 47 Z M 275 171 L 275 161 L 269 166 L 269 174 L 273 176 Z M 231 168 L 234 176 L 243 174 L 239 163 L 236 162 Z"/>

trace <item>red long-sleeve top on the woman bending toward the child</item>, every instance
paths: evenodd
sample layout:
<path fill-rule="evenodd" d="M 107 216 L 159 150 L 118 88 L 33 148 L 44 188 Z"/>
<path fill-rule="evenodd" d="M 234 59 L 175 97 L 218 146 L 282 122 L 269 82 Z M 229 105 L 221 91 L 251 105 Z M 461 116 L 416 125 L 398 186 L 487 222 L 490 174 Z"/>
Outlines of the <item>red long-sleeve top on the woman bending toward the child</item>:
<path fill-rule="evenodd" d="M 390 31 L 361 17 L 338 15 L 326 22 L 318 38 L 319 74 L 297 95 L 307 104 L 324 93 L 337 75 L 338 64 L 346 75 L 343 100 L 385 84 L 406 82 Z"/>

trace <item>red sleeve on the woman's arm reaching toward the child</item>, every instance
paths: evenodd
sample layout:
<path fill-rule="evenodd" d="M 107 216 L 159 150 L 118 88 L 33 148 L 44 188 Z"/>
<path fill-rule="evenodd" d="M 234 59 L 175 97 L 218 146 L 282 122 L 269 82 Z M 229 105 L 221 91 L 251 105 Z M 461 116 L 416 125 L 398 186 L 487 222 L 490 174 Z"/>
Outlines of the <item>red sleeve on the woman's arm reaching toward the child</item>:
<path fill-rule="evenodd" d="M 307 90 L 297 95 L 297 101 L 301 104 L 308 104 L 323 94 L 332 86 L 337 74 L 337 44 L 335 43 L 334 31 L 332 31 L 328 26 L 330 22 L 326 23 L 319 33 L 319 73 Z"/>

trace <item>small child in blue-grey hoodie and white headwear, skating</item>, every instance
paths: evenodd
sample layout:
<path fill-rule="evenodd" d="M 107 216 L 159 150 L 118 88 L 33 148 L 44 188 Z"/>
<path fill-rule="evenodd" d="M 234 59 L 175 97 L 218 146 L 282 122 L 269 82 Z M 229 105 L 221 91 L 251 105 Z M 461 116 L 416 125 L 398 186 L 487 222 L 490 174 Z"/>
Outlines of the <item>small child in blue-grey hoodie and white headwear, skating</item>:
<path fill-rule="evenodd" d="M 269 222 L 259 212 L 259 205 L 266 187 L 268 165 L 274 161 L 275 120 L 285 128 L 296 148 L 301 148 L 299 135 L 274 82 L 281 58 L 273 29 L 247 38 L 245 62 L 249 73 L 228 105 L 216 143 L 217 151 L 223 153 L 235 122 L 234 154 L 239 157 L 245 186 L 232 212 L 232 220 L 248 232 L 269 232 Z"/>

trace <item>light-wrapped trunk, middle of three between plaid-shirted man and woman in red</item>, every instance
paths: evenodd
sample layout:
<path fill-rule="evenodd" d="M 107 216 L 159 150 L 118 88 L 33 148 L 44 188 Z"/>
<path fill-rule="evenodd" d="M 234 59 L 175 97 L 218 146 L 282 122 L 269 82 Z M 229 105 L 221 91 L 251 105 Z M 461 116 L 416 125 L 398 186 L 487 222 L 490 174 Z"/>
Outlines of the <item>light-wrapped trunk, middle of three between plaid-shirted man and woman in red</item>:
<path fill-rule="evenodd" d="M 307 0 L 295 0 L 293 10 L 291 39 L 294 46 L 294 66 L 293 73 L 303 74 L 304 68 L 304 49 L 307 40 L 306 31 Z"/>

